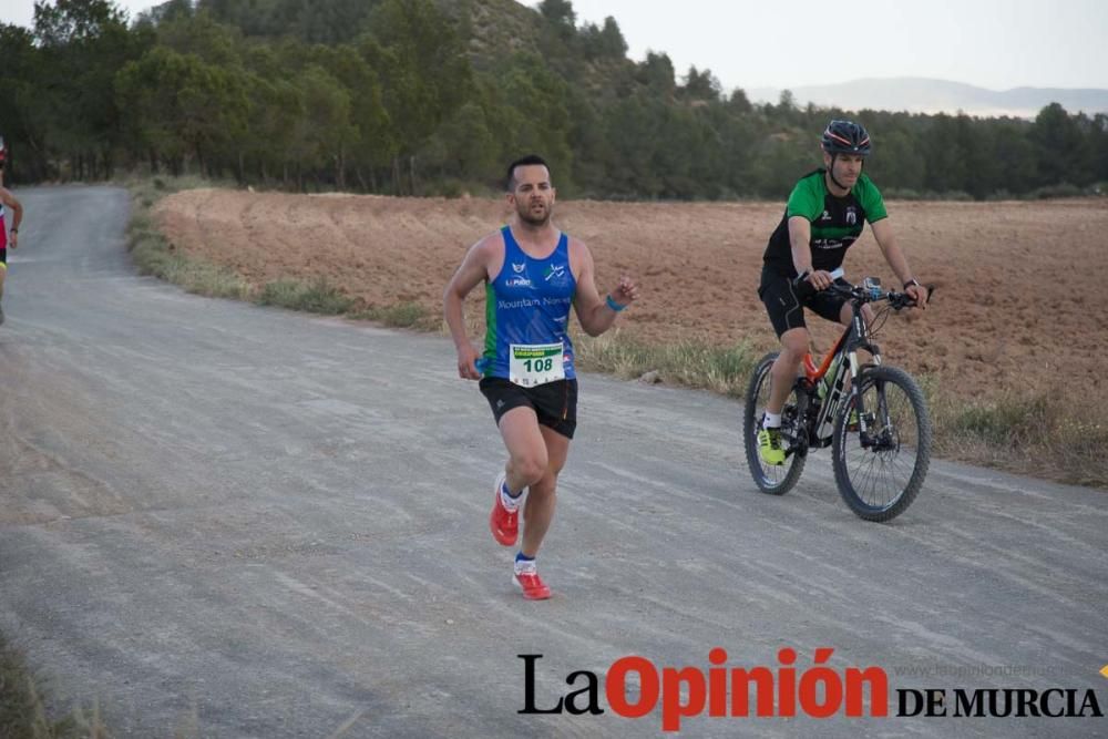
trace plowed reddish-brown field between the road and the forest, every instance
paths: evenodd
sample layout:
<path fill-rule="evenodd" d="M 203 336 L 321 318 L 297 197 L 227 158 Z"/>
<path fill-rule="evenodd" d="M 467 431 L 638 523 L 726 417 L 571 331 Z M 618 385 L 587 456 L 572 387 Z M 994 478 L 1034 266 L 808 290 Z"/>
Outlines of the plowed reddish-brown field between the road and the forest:
<path fill-rule="evenodd" d="M 554 218 L 592 248 L 601 290 L 624 271 L 642 285 L 642 299 L 620 319 L 625 333 L 721 345 L 751 339 L 769 348 L 773 335 L 756 288 L 782 209 L 576 201 L 558 203 Z M 946 392 L 966 399 L 1019 383 L 1092 393 L 1099 402 L 1108 199 L 893 202 L 889 211 L 915 275 L 938 291 L 926 312 L 905 311 L 884 327 L 888 360 L 934 373 Z M 178 193 L 157 207 L 174 248 L 253 283 L 325 276 L 367 306 L 418 301 L 433 311 L 465 249 L 507 215 L 500 199 L 224 189 Z M 845 267 L 854 281 L 871 274 L 896 284 L 869 229 Z M 468 308 L 476 315 L 480 292 Z M 833 335 L 824 324 L 817 340 L 827 346 Z"/>

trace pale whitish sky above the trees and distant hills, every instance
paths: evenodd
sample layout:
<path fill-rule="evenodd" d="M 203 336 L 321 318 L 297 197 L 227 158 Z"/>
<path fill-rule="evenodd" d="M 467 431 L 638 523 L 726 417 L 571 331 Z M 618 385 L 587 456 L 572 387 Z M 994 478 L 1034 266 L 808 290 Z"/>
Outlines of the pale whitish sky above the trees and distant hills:
<path fill-rule="evenodd" d="M 578 25 L 613 16 L 632 59 L 664 51 L 678 76 L 691 64 L 708 68 L 727 90 L 864 76 L 1108 90 L 1104 0 L 572 1 Z M 115 4 L 134 18 L 155 3 Z M 0 0 L 0 20 L 30 27 L 33 7 L 33 0 Z"/>

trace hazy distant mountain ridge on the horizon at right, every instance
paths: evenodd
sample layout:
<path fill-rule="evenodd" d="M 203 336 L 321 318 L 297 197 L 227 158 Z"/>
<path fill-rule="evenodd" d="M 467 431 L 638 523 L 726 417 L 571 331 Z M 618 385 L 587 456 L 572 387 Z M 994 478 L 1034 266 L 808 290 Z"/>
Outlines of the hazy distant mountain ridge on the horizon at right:
<path fill-rule="evenodd" d="M 865 79 L 842 84 L 789 88 L 797 105 L 809 102 L 848 111 L 862 109 L 907 111 L 910 113 L 951 113 L 958 111 L 982 117 L 1033 119 L 1050 103 L 1059 103 L 1069 113 L 1092 115 L 1108 113 L 1108 90 L 1066 90 L 1060 88 L 1016 88 L 997 92 L 961 82 L 925 78 Z M 777 103 L 780 89 L 748 90 L 753 102 Z"/>

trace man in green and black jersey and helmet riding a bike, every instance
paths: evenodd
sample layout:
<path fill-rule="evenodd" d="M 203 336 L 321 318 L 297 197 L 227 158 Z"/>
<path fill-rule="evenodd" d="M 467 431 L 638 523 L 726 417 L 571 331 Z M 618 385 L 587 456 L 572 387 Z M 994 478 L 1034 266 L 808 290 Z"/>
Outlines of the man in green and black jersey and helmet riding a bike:
<path fill-rule="evenodd" d="M 801 177 L 792 188 L 784 216 L 770 236 L 762 259 L 758 296 L 781 341 L 781 353 L 770 373 L 770 399 L 758 432 L 759 454 L 766 464 L 784 463 L 781 409 L 811 346 L 804 308 L 827 320 L 844 325 L 851 321 L 847 298 L 821 290 L 831 286 L 830 273 L 842 265 L 847 249 L 861 236 L 866 220 L 904 291 L 920 308 L 927 301 L 927 289 L 912 276 L 896 244 L 881 193 L 862 172 L 872 150 L 865 129 L 852 121 L 831 121 L 820 147 L 823 167 Z M 798 289 L 801 283 L 814 290 Z M 862 311 L 869 321 L 870 307 L 864 306 Z"/>

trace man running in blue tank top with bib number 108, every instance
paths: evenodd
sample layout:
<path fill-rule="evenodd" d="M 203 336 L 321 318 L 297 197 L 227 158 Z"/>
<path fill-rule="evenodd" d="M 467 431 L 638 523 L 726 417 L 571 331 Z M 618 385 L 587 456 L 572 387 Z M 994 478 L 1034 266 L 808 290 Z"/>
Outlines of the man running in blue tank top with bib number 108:
<path fill-rule="evenodd" d="M 535 556 L 554 517 L 557 475 L 577 425 L 577 380 L 566 332 L 570 307 L 586 333 L 599 336 L 638 297 L 626 276 L 606 298 L 599 296 L 588 247 L 551 223 L 554 199 L 546 162 L 538 156 L 513 162 L 507 168 L 512 222 L 470 247 L 443 295 L 458 374 L 481 381 L 507 448 L 489 526 L 500 544 L 513 546 L 522 503 L 525 526 L 512 579 L 532 601 L 551 595 Z M 482 281 L 483 353 L 470 342 L 462 311 L 465 296 Z"/>

